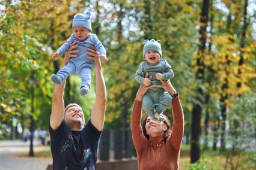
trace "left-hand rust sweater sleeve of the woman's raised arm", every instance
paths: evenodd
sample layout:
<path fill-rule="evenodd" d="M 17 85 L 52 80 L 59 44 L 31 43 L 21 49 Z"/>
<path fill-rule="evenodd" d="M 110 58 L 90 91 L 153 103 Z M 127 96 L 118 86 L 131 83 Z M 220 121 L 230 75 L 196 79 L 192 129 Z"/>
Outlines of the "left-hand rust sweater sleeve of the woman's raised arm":
<path fill-rule="evenodd" d="M 130 129 L 132 130 L 132 140 L 135 145 L 136 151 L 141 153 L 147 138 L 145 138 L 142 127 L 141 127 L 141 112 L 142 112 L 142 102 L 135 99 L 132 115 L 130 117 Z"/>

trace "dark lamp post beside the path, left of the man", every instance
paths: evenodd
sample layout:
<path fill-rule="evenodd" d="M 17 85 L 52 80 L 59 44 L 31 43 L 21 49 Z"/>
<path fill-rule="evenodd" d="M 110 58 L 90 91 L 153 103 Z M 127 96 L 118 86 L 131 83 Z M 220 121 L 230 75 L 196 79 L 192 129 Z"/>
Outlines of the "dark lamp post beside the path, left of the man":
<path fill-rule="evenodd" d="M 31 84 L 31 114 L 30 114 L 30 132 L 31 135 L 30 138 L 30 147 L 29 147 L 29 156 L 34 156 L 34 150 L 33 150 L 33 139 L 34 139 L 34 84 L 37 83 L 34 77 L 34 72 L 31 73 L 28 83 Z"/>

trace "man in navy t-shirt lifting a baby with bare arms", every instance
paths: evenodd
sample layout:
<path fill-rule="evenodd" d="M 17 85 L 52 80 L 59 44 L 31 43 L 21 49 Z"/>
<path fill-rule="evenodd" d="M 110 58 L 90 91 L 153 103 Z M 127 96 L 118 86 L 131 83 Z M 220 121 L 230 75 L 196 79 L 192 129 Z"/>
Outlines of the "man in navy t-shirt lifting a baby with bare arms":
<path fill-rule="evenodd" d="M 70 57 L 76 57 L 76 47 L 78 45 L 70 46 L 63 65 L 66 65 Z M 49 126 L 53 169 L 96 169 L 97 151 L 106 111 L 106 87 L 100 55 L 95 49 L 88 48 L 87 52 L 93 56 L 88 59 L 93 60 L 96 71 L 96 102 L 91 111 L 91 119 L 86 125 L 84 113 L 78 104 L 69 104 L 64 109 L 63 93 L 66 81 L 60 85 L 55 84 Z"/>

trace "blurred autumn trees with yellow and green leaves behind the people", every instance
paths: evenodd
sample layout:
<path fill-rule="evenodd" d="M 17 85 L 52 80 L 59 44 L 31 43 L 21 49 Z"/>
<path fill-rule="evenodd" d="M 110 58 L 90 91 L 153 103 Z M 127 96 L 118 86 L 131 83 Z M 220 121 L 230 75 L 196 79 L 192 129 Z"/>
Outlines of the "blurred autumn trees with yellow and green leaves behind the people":
<path fill-rule="evenodd" d="M 123 130 L 123 149 L 143 41 L 154 38 L 162 41 L 163 57 L 174 71 L 171 82 L 183 105 L 191 162 L 200 159 L 200 150 L 220 148 L 234 164 L 231 155 L 239 157 L 237 148 L 248 148 L 255 139 L 255 5 L 251 0 L 1 1 L 0 135 L 18 128 L 22 133 L 29 117 L 35 128 L 47 129 L 49 77 L 61 62 L 51 55 L 72 34 L 73 16 L 90 10 L 93 33 L 109 58 L 102 64 L 108 90 L 105 128 Z M 88 120 L 95 81 L 85 97 L 78 93 L 80 81 L 69 77 L 65 102 L 82 105 Z"/>

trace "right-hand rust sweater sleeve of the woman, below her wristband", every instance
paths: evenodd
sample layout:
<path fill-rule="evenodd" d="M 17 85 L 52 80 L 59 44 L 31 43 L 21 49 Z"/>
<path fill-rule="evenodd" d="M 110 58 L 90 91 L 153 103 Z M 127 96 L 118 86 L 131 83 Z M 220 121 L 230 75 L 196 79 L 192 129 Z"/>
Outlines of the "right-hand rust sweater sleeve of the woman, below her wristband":
<path fill-rule="evenodd" d="M 172 99 L 172 116 L 172 132 L 166 143 L 169 143 L 174 150 L 178 151 L 184 133 L 184 114 L 178 96 Z"/>

